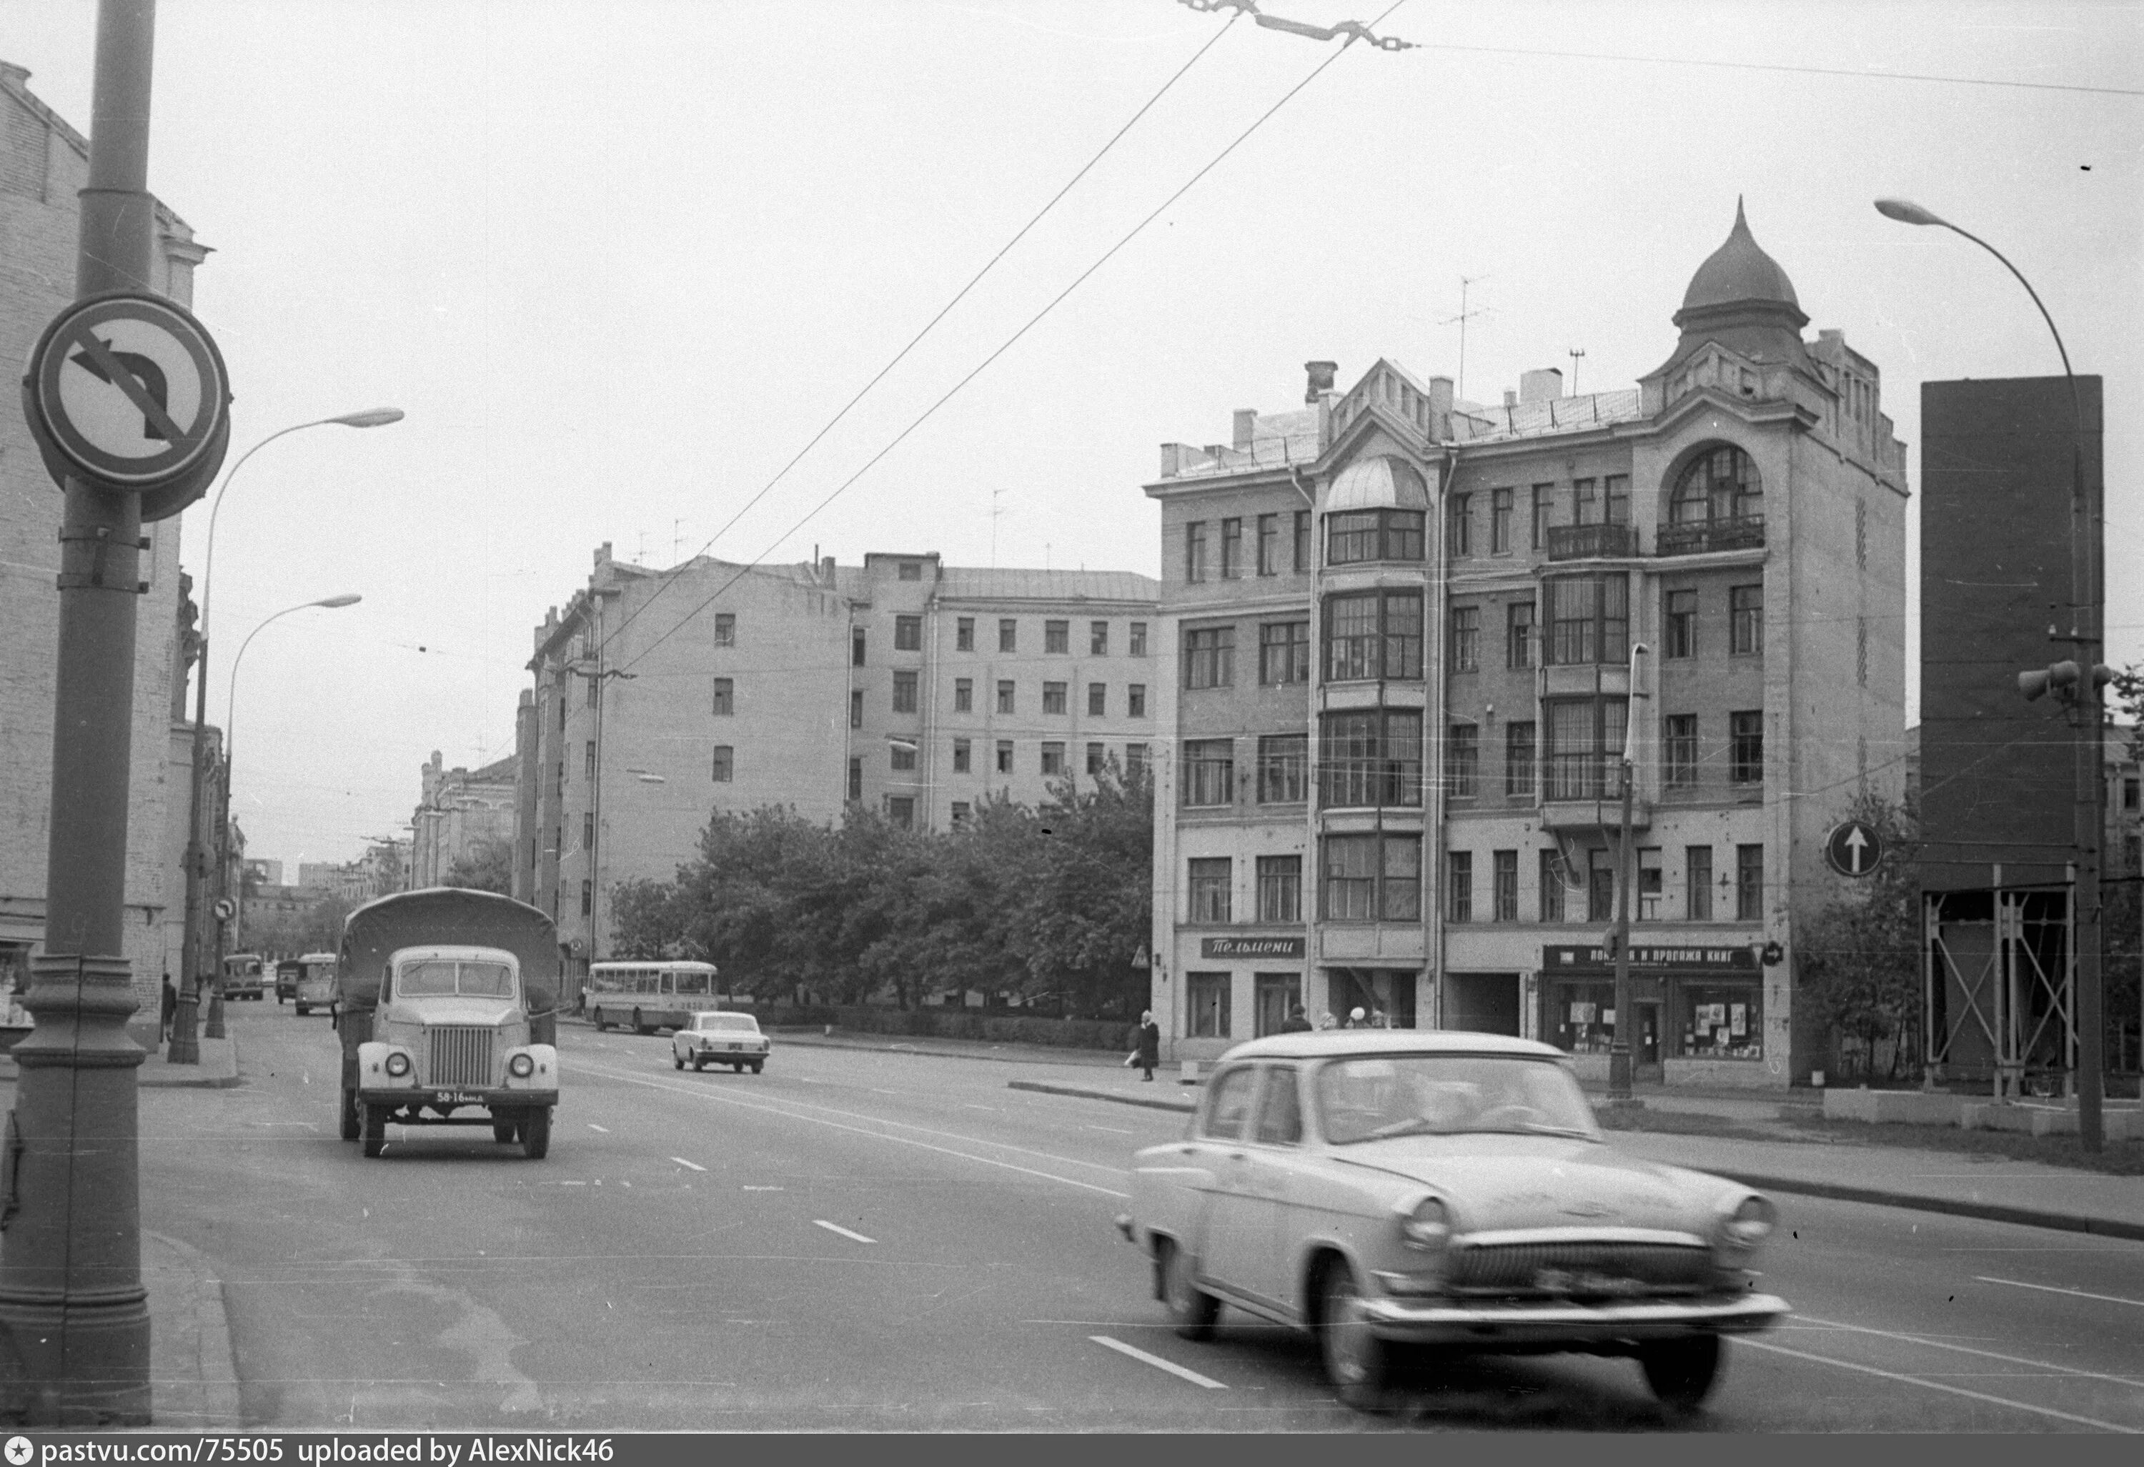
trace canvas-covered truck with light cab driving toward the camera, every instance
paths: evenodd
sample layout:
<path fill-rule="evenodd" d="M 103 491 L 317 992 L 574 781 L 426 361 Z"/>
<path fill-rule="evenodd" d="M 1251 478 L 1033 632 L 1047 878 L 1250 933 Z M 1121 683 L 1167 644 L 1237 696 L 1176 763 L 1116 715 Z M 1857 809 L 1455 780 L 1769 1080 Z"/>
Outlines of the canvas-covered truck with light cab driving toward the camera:
<path fill-rule="evenodd" d="M 495 892 L 435 886 L 343 922 L 334 1027 L 343 1141 L 367 1156 L 401 1126 L 491 1126 L 530 1160 L 551 1150 L 560 954 L 551 918 Z"/>

